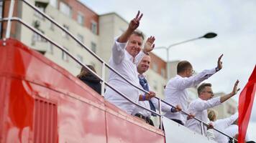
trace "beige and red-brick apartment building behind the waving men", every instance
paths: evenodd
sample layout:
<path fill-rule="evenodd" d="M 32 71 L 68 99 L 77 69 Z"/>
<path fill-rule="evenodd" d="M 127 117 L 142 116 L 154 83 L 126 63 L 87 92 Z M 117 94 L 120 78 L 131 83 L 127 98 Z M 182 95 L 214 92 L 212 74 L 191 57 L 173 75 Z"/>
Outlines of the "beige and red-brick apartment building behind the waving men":
<path fill-rule="evenodd" d="M 128 22 L 116 13 L 96 14 L 85 4 L 78 0 L 29 0 L 35 4 L 40 11 L 58 22 L 60 26 L 70 31 L 91 51 L 104 59 L 108 63 L 111 56 L 111 46 L 114 38 L 122 34 L 128 27 Z M 101 74 L 101 62 L 96 60 L 68 34 L 61 31 L 58 26 L 50 23 L 37 12 L 30 9 L 23 1 L 15 1 L 14 16 L 33 26 L 35 29 L 45 34 L 60 46 L 63 46 L 70 54 L 73 54 L 83 64 L 95 66 L 98 74 Z M 9 1 L 4 2 L 3 16 L 8 15 Z M 47 58 L 55 61 L 73 75 L 80 72 L 81 66 L 76 64 L 63 51 L 57 49 L 53 44 L 43 39 L 40 35 L 27 29 L 22 24 L 12 22 L 12 34 L 15 39 L 19 39 L 24 44 L 40 51 Z M 4 26 L 3 26 L 4 27 Z M 4 35 L 5 29 L 2 30 Z M 166 84 L 166 62 L 155 54 L 150 54 L 152 64 L 147 71 L 147 78 L 150 87 L 157 93 L 157 97 L 163 98 L 163 87 Z M 106 75 L 108 72 L 106 71 Z"/>

